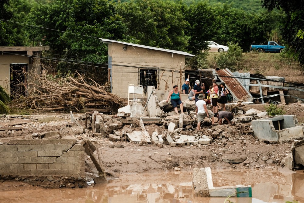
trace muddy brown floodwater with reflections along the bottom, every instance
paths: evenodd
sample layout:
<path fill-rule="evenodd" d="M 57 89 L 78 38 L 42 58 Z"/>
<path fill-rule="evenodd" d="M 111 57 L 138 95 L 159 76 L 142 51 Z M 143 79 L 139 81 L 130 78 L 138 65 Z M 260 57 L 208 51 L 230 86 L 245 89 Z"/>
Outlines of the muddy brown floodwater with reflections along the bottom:
<path fill-rule="evenodd" d="M 212 170 L 215 187 L 251 185 L 252 198 L 229 198 L 236 203 L 298 200 L 304 202 L 304 173 L 282 170 Z M 222 203 L 226 198 L 196 198 L 192 173 L 128 173 L 108 184 L 83 189 L 37 189 L 0 192 L 0 202 L 101 203 Z"/>

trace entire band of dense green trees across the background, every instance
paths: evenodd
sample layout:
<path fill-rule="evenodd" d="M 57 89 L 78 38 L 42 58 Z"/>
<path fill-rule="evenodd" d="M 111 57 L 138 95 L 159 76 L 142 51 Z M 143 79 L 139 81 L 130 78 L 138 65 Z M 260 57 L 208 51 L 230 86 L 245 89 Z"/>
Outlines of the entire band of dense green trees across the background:
<path fill-rule="evenodd" d="M 285 12 L 259 9 L 258 0 L 0 0 L 0 17 L 6 19 L 0 20 L 0 45 L 50 46 L 47 56 L 57 71 L 78 71 L 99 81 L 107 75 L 108 53 L 98 38 L 187 51 L 198 56 L 188 60 L 192 68 L 206 67 L 202 50 L 209 40 L 232 43 L 218 65 L 233 66 L 233 44 L 246 52 L 250 44 L 268 40 L 286 42 L 286 52 L 304 62 L 302 4 L 263 2 Z"/>

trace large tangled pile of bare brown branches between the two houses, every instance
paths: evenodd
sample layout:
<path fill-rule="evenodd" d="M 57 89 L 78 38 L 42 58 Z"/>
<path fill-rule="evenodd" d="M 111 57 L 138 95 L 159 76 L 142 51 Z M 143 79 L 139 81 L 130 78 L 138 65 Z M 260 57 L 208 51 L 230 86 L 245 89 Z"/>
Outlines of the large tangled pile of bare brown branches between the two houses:
<path fill-rule="evenodd" d="M 12 93 L 12 107 L 30 110 L 75 110 L 99 107 L 117 110 L 126 106 L 126 100 L 106 90 L 109 84 L 100 86 L 92 79 L 89 82 L 79 74 L 55 80 L 46 74 L 35 75 L 36 81 L 22 82 L 22 91 Z M 28 91 L 24 91 L 24 89 Z M 28 95 L 24 95 L 28 92 Z"/>

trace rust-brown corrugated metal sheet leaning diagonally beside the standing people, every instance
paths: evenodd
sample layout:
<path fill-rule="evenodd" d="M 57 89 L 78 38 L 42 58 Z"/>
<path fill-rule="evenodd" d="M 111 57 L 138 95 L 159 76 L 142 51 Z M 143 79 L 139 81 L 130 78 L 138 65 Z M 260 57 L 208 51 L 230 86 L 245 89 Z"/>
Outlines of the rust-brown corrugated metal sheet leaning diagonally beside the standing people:
<path fill-rule="evenodd" d="M 253 100 L 249 91 L 243 86 L 238 78 L 234 77 L 229 69 L 218 70 L 216 73 L 219 79 L 227 86 L 229 92 L 233 96 L 233 100 L 247 100 L 248 102 Z"/>

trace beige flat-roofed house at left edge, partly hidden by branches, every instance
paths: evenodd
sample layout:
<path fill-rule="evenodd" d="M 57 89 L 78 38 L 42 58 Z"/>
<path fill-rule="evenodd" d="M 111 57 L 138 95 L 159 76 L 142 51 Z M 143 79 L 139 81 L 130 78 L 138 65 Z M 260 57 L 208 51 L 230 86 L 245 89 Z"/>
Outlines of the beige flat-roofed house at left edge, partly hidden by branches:
<path fill-rule="evenodd" d="M 41 72 L 42 51 L 49 47 L 0 47 L 0 86 L 7 93 L 11 90 L 29 95 L 31 87 L 22 83 L 35 82 L 34 73 Z"/>

